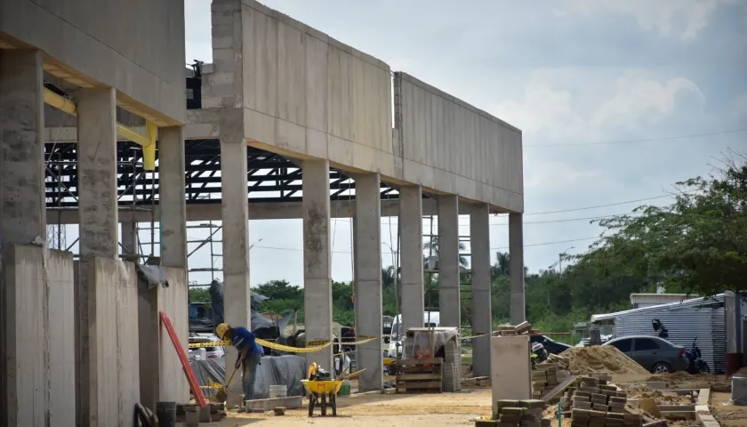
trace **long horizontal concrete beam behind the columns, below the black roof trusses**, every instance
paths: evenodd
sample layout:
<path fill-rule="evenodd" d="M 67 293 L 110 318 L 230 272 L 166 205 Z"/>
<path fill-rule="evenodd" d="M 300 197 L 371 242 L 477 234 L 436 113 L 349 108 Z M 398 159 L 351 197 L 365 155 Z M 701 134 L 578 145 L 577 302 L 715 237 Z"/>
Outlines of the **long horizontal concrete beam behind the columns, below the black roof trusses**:
<path fill-rule="evenodd" d="M 382 217 L 398 216 L 398 200 L 382 200 Z M 414 204 L 414 202 L 413 202 Z M 436 201 L 430 198 L 423 199 L 418 205 L 422 205 L 422 215 L 436 215 Z M 50 224 L 77 224 L 78 209 L 47 209 L 47 222 Z M 333 218 L 350 218 L 355 216 L 356 204 L 354 201 L 330 201 L 330 216 Z M 301 202 L 273 202 L 273 203 L 249 203 L 250 220 L 297 220 L 303 218 Z M 420 215 L 422 217 L 422 215 Z M 156 206 L 156 219 L 161 218 L 160 206 Z M 187 221 L 221 221 L 221 204 L 187 205 Z M 150 211 L 134 211 L 127 207 L 119 208 L 119 222 L 150 222 Z M 422 233 L 421 233 L 422 234 Z M 422 326 L 419 326 L 422 327 Z"/>

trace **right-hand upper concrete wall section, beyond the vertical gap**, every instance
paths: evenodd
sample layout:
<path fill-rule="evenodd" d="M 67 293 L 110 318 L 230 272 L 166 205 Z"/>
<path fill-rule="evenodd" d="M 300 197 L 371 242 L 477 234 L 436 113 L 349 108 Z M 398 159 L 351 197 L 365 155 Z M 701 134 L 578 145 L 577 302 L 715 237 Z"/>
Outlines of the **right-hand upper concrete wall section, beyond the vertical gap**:
<path fill-rule="evenodd" d="M 394 96 L 402 179 L 524 211 L 521 131 L 406 73 Z"/>

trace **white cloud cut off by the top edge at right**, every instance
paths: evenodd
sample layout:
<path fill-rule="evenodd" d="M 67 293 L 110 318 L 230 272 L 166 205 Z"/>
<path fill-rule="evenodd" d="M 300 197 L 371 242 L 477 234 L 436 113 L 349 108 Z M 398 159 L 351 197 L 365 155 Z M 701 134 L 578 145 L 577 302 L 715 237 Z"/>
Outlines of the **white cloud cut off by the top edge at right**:
<path fill-rule="evenodd" d="M 720 4 L 740 0 L 573 0 L 577 12 L 613 11 L 633 15 L 640 28 L 663 37 L 679 37 L 690 43 L 708 27 L 711 13 Z"/>

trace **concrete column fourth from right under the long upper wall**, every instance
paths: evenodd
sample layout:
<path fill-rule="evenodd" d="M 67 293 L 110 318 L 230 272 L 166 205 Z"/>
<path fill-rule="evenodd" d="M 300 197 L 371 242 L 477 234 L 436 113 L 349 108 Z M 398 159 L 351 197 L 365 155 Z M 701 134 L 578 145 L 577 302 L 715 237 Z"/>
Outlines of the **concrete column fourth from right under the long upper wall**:
<path fill-rule="evenodd" d="M 409 328 L 423 325 L 422 189 L 419 185 L 399 189 L 399 233 L 402 332 L 405 333 Z"/>

